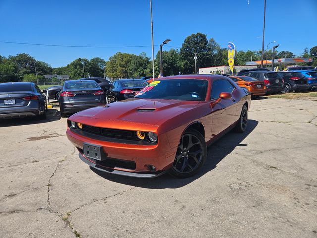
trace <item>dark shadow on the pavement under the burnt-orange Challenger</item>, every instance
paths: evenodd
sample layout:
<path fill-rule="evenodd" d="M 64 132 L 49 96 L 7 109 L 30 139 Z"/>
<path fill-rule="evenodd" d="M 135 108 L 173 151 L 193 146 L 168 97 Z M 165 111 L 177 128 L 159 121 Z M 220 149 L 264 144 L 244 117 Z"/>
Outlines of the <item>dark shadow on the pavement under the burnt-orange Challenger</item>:
<path fill-rule="evenodd" d="M 183 187 L 200 178 L 204 174 L 210 172 L 211 170 L 215 169 L 217 167 L 217 164 L 228 154 L 230 154 L 236 146 L 247 146 L 247 144 L 241 144 L 241 141 L 243 141 L 257 127 L 257 125 L 258 121 L 248 120 L 248 127 L 244 133 L 229 132 L 218 141 L 213 143 L 211 146 L 209 146 L 205 165 L 196 175 L 190 178 L 180 179 L 166 173 L 160 177 L 152 179 L 142 179 L 112 175 L 96 170 L 93 167 L 90 167 L 90 169 L 104 179 L 130 186 L 143 187 L 148 189 Z"/>

